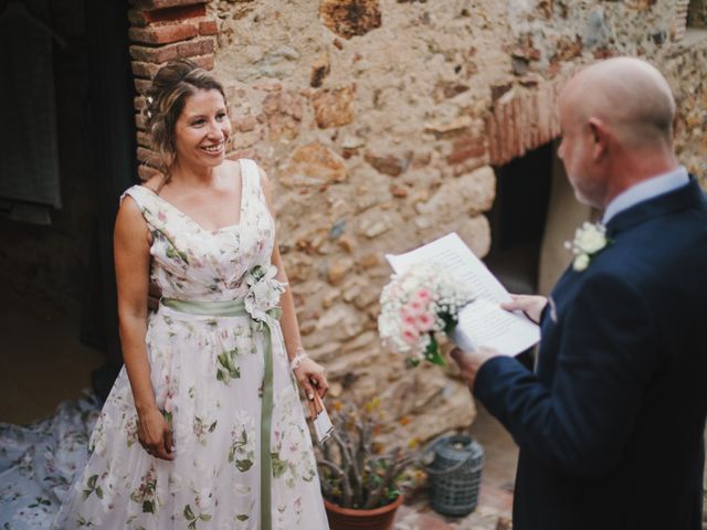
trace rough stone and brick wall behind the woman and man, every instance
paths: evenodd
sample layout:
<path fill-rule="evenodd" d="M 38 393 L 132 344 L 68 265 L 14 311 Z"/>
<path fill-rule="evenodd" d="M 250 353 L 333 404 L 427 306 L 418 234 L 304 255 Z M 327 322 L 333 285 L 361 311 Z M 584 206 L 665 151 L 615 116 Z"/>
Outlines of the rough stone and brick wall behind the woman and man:
<path fill-rule="evenodd" d="M 381 347 L 384 253 L 456 231 L 484 256 L 490 165 L 556 138 L 564 80 L 614 54 L 666 70 L 680 149 L 704 176 L 705 41 L 687 42 L 676 3 L 134 0 L 134 71 L 148 78 L 167 49 L 225 82 L 231 157 L 255 158 L 274 183 L 305 347 L 335 396 L 379 395 L 392 424 L 425 439 L 468 425 L 474 409 L 452 369 L 405 370 Z"/>

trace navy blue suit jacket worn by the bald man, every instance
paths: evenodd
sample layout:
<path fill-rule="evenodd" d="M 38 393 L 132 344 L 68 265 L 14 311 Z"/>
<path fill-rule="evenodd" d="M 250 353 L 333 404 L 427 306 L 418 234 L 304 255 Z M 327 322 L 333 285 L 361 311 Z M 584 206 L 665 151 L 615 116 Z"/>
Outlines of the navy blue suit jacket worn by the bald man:
<path fill-rule="evenodd" d="M 694 179 L 619 213 L 541 319 L 536 372 L 494 358 L 474 394 L 520 447 L 515 530 L 699 530 L 707 202 Z"/>

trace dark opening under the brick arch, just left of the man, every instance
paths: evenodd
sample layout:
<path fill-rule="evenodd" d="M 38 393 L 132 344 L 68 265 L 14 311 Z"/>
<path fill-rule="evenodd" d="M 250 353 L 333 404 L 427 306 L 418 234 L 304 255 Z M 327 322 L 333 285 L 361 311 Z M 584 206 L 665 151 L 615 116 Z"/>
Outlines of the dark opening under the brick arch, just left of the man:
<path fill-rule="evenodd" d="M 487 214 L 492 247 L 484 261 L 510 293 L 538 292 L 552 160 L 548 144 L 495 168 L 496 200 Z"/>

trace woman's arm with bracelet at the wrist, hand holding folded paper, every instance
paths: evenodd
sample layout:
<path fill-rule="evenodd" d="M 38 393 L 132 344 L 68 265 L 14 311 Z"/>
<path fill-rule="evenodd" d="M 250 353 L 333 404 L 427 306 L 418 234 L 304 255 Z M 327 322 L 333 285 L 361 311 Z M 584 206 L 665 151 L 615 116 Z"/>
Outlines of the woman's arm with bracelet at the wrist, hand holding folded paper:
<path fill-rule="evenodd" d="M 258 171 L 261 173 L 261 184 L 265 194 L 267 208 L 270 208 L 271 214 L 273 215 L 273 219 L 275 219 L 275 209 L 273 208 L 273 195 L 270 181 L 261 168 L 258 168 Z M 272 263 L 277 267 L 277 279 L 288 284 L 287 274 L 285 273 L 282 256 L 279 255 L 277 232 L 275 233 Z M 292 296 L 292 286 L 289 284 L 287 285 L 285 293 L 283 293 L 279 301 L 283 309 L 283 316 L 279 324 L 285 338 L 287 357 L 289 358 L 297 382 L 305 390 L 305 394 L 307 395 L 307 401 L 309 403 L 309 410 L 314 417 L 316 415 L 314 392 L 317 392 L 320 398 L 324 398 L 329 388 L 326 378 L 326 370 L 309 358 L 305 349 L 302 347 L 299 325 L 297 324 L 297 314 L 295 312 L 295 301 Z"/>

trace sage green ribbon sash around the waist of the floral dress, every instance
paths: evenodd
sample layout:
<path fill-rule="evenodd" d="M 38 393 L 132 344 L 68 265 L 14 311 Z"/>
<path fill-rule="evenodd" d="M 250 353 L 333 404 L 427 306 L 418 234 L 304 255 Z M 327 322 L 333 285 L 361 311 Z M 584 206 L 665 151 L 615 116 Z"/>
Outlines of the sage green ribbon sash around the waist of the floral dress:
<path fill-rule="evenodd" d="M 176 298 L 162 298 L 161 304 L 170 309 L 190 315 L 209 317 L 250 317 L 245 310 L 243 299 L 240 300 L 178 300 Z M 265 328 L 265 373 L 263 375 L 263 405 L 261 410 L 261 530 L 271 530 L 271 477 L 273 458 L 270 441 L 273 421 L 273 319 L 279 318 L 279 309 L 273 309 L 264 314 L 263 319 L 257 319 Z M 254 318 L 253 318 L 254 319 Z M 255 319 L 254 319 L 255 320 Z"/>

